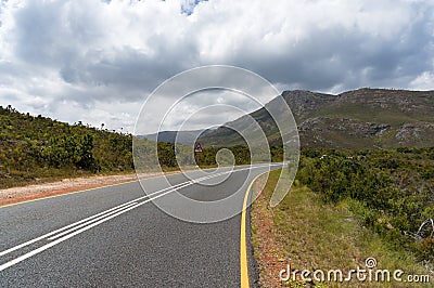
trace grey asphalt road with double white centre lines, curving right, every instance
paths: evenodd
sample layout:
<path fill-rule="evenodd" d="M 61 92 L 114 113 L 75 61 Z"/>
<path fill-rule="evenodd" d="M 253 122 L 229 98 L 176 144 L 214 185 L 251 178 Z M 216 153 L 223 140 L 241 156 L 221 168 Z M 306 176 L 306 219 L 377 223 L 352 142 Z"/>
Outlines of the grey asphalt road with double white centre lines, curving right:
<path fill-rule="evenodd" d="M 131 182 L 0 208 L 0 287 L 240 287 L 245 271 L 254 286 L 248 239 L 242 260 L 248 218 L 196 224 L 168 215 L 151 198 L 179 192 L 210 201 L 244 189 L 234 198 L 242 208 L 253 179 L 269 169 L 238 167 L 206 178 L 191 171 L 169 183 L 143 181 L 146 194 Z"/>

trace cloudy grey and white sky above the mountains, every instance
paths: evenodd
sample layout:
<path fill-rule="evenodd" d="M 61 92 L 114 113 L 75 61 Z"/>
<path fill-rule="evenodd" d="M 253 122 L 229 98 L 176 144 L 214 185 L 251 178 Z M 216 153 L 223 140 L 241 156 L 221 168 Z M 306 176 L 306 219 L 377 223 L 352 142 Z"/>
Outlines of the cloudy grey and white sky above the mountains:
<path fill-rule="evenodd" d="M 434 89 L 433 0 L 0 1 L 0 105 L 62 121 L 132 132 L 162 81 L 209 64 L 279 90 Z"/>

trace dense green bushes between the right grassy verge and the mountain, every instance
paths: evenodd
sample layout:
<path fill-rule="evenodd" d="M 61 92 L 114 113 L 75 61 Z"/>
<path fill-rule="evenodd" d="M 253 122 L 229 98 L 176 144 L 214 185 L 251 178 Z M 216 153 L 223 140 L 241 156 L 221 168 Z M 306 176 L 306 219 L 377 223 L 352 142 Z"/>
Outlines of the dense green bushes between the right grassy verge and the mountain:
<path fill-rule="evenodd" d="M 326 204 L 345 204 L 395 248 L 434 261 L 434 147 L 305 149 L 298 181 Z M 418 233 L 419 231 L 419 233 Z"/>

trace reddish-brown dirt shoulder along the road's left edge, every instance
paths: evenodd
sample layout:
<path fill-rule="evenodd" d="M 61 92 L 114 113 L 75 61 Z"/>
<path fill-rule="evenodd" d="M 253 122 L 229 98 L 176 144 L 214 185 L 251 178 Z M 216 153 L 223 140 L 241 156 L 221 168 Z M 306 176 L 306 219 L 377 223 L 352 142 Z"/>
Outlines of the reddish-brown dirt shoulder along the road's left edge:
<path fill-rule="evenodd" d="M 176 172 L 169 172 L 165 174 L 173 174 L 173 173 Z M 161 173 L 142 173 L 139 176 L 140 179 L 146 179 L 156 175 L 161 175 Z M 62 181 L 55 181 L 51 183 L 31 184 L 22 187 L 0 189 L 0 206 L 16 204 L 60 194 L 66 194 L 82 189 L 90 189 L 113 184 L 120 184 L 120 183 L 136 181 L 137 179 L 138 176 L 136 174 L 98 175 L 88 178 L 64 179 Z"/>

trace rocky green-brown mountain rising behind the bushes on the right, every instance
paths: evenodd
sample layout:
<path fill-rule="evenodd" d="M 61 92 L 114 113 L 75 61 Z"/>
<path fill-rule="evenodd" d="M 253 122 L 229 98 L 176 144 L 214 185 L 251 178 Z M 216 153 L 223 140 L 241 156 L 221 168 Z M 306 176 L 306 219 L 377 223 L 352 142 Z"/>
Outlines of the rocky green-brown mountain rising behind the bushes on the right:
<path fill-rule="evenodd" d="M 337 95 L 284 91 L 279 97 L 290 106 L 302 146 L 329 148 L 390 148 L 434 145 L 434 91 L 359 89 Z M 273 100 L 276 101 L 276 100 Z M 270 103 L 272 103 L 271 101 Z M 267 105 L 270 105 L 267 104 Z M 279 131 L 265 108 L 251 116 L 271 145 Z M 242 127 L 246 117 L 201 136 L 205 145 L 243 144 L 228 127 Z"/>

